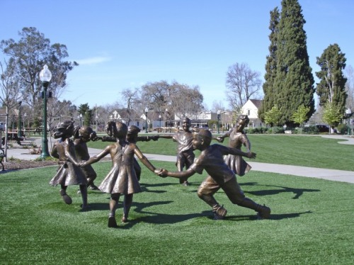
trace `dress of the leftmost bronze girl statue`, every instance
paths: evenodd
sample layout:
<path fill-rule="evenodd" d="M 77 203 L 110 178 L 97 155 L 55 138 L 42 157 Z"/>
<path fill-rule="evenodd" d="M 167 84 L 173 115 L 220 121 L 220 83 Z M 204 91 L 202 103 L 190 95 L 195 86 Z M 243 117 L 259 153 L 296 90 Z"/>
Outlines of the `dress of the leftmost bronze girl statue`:
<path fill-rule="evenodd" d="M 70 139 L 66 139 L 64 141 L 59 140 L 55 143 L 53 149 L 57 149 L 56 151 L 59 154 L 59 167 L 57 169 L 57 174 L 55 174 L 50 181 L 50 185 L 87 185 L 86 176 L 84 176 L 81 168 L 72 164 L 72 162 L 69 162 L 67 159 L 68 155 L 70 155 L 73 159 L 76 159 L 74 142 Z"/>

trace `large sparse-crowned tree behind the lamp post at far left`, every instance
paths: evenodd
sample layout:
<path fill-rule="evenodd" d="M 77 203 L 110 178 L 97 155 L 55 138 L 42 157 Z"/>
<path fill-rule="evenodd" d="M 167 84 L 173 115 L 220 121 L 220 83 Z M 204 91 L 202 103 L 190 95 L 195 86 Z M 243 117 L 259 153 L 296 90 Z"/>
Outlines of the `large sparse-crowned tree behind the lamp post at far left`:
<path fill-rule="evenodd" d="M 43 66 L 47 64 L 52 72 L 49 89 L 56 98 L 67 85 L 67 73 L 79 64 L 65 61 L 64 59 L 69 56 L 67 47 L 59 43 L 51 45 L 50 40 L 36 28 L 23 28 L 18 35 L 21 37 L 18 42 L 13 39 L 1 40 L 0 49 L 8 57 L 8 64 L 16 69 L 16 75 L 20 78 L 19 87 L 22 90 L 23 101 L 39 115 L 42 107 L 39 72 Z"/>

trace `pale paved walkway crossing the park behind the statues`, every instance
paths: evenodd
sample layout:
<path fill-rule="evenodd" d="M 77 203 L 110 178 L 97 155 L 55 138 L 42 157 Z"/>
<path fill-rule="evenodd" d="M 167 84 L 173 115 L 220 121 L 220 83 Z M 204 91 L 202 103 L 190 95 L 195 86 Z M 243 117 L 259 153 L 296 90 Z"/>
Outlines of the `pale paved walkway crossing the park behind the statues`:
<path fill-rule="evenodd" d="M 347 137 L 343 135 L 323 135 L 323 137 L 335 138 L 340 144 L 354 145 L 354 137 Z M 42 145 L 41 138 L 33 138 L 38 146 Z M 346 140 L 346 141 L 345 141 Z M 54 142 L 54 140 L 52 140 Z M 354 151 L 354 150 L 353 150 Z M 101 150 L 89 148 L 89 153 L 91 156 L 98 154 Z M 159 160 L 166 162 L 176 162 L 176 156 L 167 156 L 161 154 L 145 154 L 148 159 Z M 23 148 L 10 148 L 8 149 L 7 157 L 14 157 L 17 159 L 33 160 L 39 157 L 38 154 L 30 154 L 29 149 Z M 263 171 L 263 172 L 273 172 L 279 174 L 290 174 L 295 176 L 307 176 L 311 178 L 327 179 L 331 181 L 342 181 L 354 184 L 354 171 L 344 171 L 336 169 L 318 169 L 312 167 L 297 167 L 289 166 L 283 164 L 266 164 L 259 162 L 249 162 L 251 164 L 252 170 Z"/>

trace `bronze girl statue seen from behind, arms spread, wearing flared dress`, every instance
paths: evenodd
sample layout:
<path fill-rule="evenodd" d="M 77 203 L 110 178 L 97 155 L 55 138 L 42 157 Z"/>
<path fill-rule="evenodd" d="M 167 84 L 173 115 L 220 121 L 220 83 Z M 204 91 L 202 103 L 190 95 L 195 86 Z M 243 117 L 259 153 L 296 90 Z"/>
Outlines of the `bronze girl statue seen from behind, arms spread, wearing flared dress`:
<path fill-rule="evenodd" d="M 127 142 L 127 125 L 125 125 L 125 123 L 117 122 L 112 126 L 111 130 L 113 137 L 115 137 L 117 141 L 112 145 L 105 147 L 100 154 L 91 157 L 86 162 L 81 162 L 80 166 L 86 167 L 89 164 L 98 162 L 107 154 L 110 154 L 113 162 L 112 168 L 98 188 L 105 193 L 110 193 L 108 227 L 118 227 L 115 220 L 115 210 L 117 209 L 120 195 L 123 194 L 125 196 L 122 222 L 127 222 L 130 207 L 132 205 L 133 194 L 142 191 L 134 169 L 134 155 L 140 159 L 145 167 L 153 171 L 155 174 L 158 174 L 161 170 L 156 169 L 149 162 L 135 143 Z"/>

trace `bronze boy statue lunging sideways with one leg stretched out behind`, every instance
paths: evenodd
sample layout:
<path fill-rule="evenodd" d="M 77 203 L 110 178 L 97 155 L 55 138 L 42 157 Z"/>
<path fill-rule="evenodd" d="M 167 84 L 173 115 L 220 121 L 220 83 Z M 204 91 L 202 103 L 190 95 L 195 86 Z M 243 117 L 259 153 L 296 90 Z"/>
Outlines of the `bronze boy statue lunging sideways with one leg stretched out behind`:
<path fill-rule="evenodd" d="M 212 207 L 212 211 L 215 213 L 215 220 L 222 220 L 227 214 L 227 210 L 219 205 L 213 196 L 220 188 L 227 194 L 232 203 L 256 210 L 258 218 L 269 218 L 270 208 L 265 205 L 259 205 L 244 195 L 237 183 L 236 175 L 229 169 L 223 159 L 223 155 L 226 154 L 241 155 L 249 158 L 255 158 L 256 154 L 253 152 L 244 153 L 236 148 L 218 144 L 210 145 L 211 141 L 212 133 L 209 130 L 201 129 L 199 133 L 193 133 L 193 148 L 201 151 L 200 156 L 195 159 L 195 162 L 186 171 L 169 172 L 166 169 L 162 169 L 159 176 L 188 179 L 195 173 L 202 174 L 205 169 L 208 176 L 200 184 L 198 196 Z"/>

